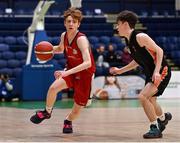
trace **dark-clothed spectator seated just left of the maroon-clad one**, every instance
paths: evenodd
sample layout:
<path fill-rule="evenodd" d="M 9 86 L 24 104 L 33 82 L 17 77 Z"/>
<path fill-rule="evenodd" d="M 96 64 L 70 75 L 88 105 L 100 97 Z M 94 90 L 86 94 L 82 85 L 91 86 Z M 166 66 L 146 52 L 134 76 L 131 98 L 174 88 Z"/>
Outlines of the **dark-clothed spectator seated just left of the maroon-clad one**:
<path fill-rule="evenodd" d="M 121 63 L 121 56 L 117 54 L 115 51 L 115 47 L 113 44 L 108 45 L 108 52 L 106 54 L 106 61 L 110 66 L 119 66 Z"/>

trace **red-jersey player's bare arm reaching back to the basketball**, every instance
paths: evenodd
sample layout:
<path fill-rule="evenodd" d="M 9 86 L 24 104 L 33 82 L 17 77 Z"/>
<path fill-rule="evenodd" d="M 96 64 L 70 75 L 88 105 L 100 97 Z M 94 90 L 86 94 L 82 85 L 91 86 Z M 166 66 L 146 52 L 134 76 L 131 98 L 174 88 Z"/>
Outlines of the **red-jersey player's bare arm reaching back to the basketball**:
<path fill-rule="evenodd" d="M 53 52 L 54 54 L 60 54 L 64 51 L 64 35 L 65 32 L 61 34 L 61 39 L 59 45 L 53 46 Z"/>

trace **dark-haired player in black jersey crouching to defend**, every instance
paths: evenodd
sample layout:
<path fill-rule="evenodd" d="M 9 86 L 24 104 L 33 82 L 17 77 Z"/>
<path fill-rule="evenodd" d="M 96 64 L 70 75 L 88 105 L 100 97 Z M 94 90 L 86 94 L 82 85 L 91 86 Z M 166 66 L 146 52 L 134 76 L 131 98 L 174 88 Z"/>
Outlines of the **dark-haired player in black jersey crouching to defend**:
<path fill-rule="evenodd" d="M 122 11 L 117 17 L 117 31 L 121 37 L 125 37 L 129 47 L 129 53 L 133 58 L 128 65 L 110 68 L 113 75 L 122 74 L 141 66 L 146 76 L 145 87 L 139 93 L 138 98 L 144 108 L 150 124 L 150 130 L 143 135 L 144 138 L 161 138 L 171 113 L 163 113 L 156 99 L 162 95 L 171 77 L 171 69 L 168 66 L 163 50 L 145 33 L 134 30 L 138 21 L 137 15 L 132 11 Z"/>

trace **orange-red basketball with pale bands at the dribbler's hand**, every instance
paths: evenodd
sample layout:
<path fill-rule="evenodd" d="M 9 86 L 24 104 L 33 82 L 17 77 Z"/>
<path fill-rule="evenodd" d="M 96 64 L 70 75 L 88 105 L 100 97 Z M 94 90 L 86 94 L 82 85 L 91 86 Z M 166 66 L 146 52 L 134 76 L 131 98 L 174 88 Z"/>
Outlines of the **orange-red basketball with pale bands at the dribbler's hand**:
<path fill-rule="evenodd" d="M 53 45 L 42 41 L 35 46 L 35 54 L 38 61 L 49 61 L 53 58 Z"/>

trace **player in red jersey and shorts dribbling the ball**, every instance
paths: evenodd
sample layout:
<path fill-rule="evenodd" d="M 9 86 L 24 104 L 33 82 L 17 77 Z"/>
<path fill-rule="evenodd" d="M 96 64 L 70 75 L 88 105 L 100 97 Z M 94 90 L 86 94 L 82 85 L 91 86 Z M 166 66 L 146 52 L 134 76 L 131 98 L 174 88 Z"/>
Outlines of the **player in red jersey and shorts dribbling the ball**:
<path fill-rule="evenodd" d="M 67 59 L 67 70 L 55 71 L 56 80 L 49 87 L 46 108 L 37 111 L 30 120 L 39 124 L 51 117 L 57 93 L 66 88 L 74 89 L 74 105 L 64 120 L 63 133 L 72 133 L 72 121 L 78 117 L 83 107 L 87 105 L 91 93 L 91 82 L 95 73 L 90 44 L 87 37 L 78 31 L 82 20 L 82 13 L 75 8 L 64 12 L 66 32 L 61 35 L 61 42 L 54 46 L 54 53 L 63 53 Z"/>

